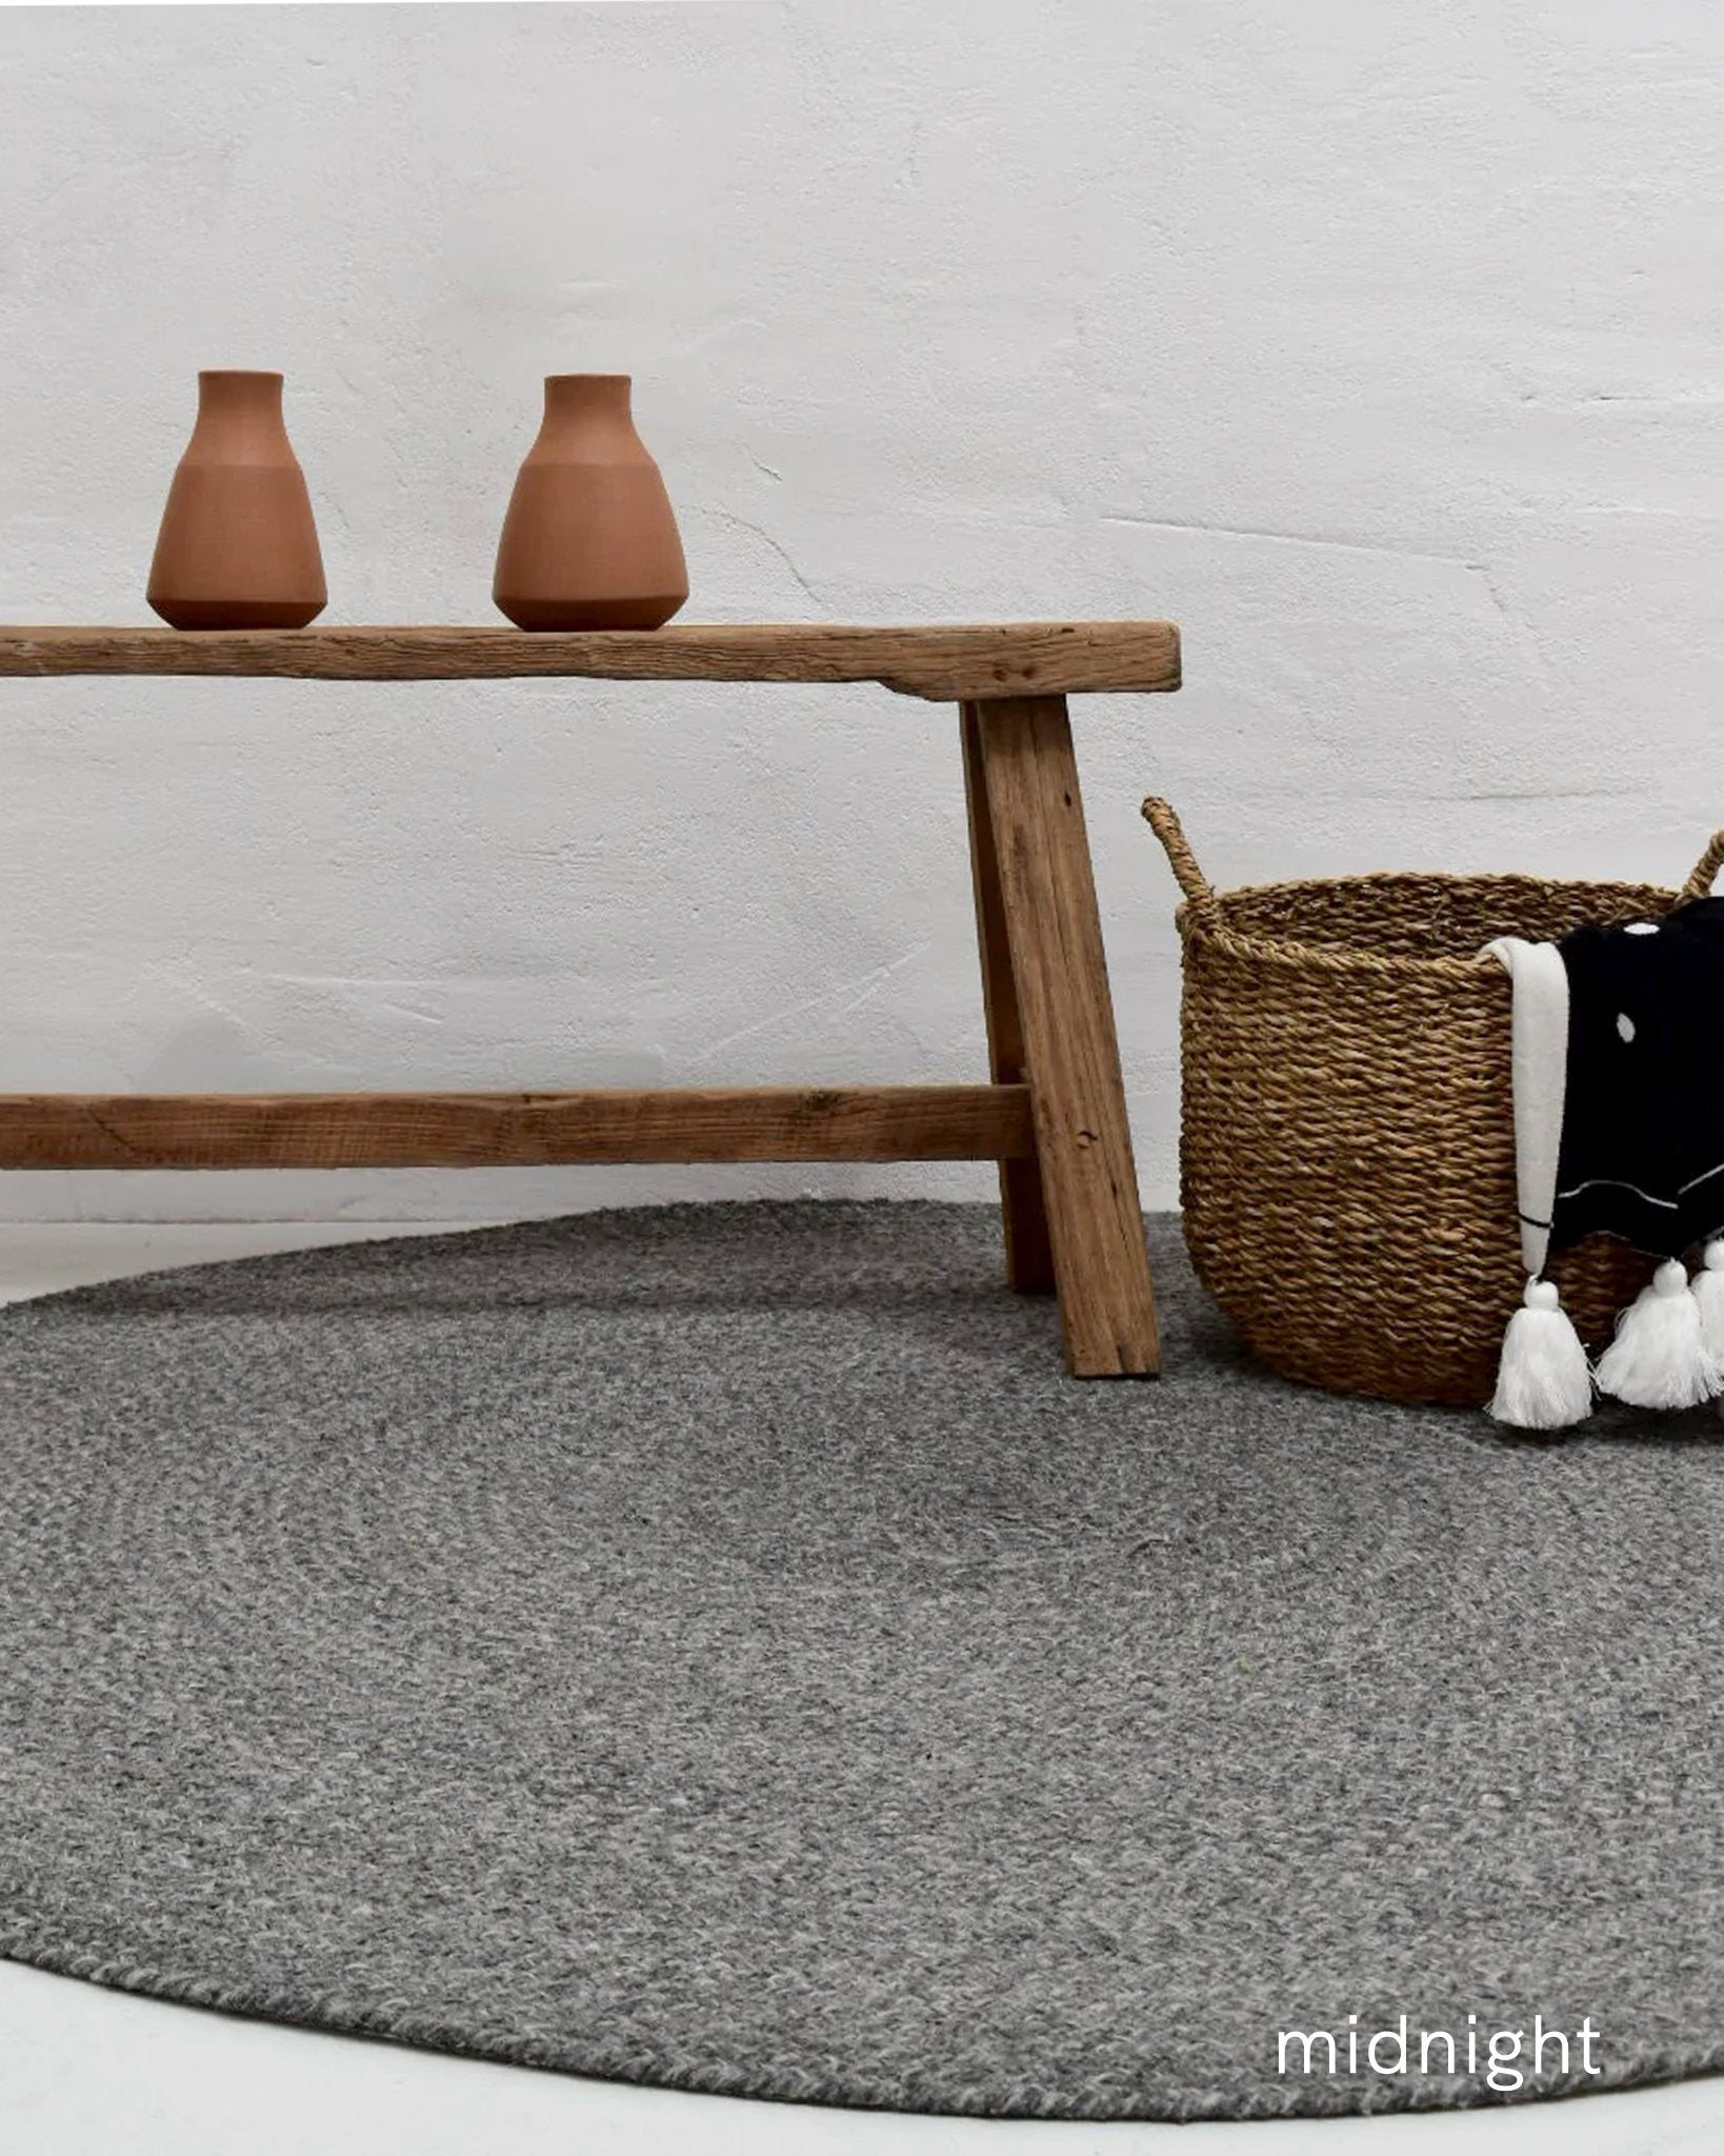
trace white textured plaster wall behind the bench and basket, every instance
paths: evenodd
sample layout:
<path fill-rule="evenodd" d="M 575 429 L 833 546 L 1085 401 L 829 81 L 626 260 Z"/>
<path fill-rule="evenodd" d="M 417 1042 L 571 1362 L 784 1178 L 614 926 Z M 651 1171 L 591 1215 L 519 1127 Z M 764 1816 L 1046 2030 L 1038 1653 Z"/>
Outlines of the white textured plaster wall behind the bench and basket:
<path fill-rule="evenodd" d="M 552 369 L 690 619 L 1172 614 L 1078 707 L 1144 1190 L 1155 785 L 1224 880 L 1677 877 L 1724 821 L 1724 19 L 1517 0 L 0 9 L 0 619 L 140 621 L 280 367 L 330 621 L 487 619 Z M 968 1078 L 948 711 L 0 683 L 0 1087 Z M 502 1214 L 978 1169 L 0 1179 Z"/>

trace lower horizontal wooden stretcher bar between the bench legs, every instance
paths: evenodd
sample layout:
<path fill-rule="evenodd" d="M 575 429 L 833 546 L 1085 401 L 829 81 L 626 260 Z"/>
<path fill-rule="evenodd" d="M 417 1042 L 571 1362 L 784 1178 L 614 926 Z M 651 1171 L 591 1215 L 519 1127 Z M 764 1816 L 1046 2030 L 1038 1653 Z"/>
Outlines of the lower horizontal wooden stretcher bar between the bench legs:
<path fill-rule="evenodd" d="M 1026 1087 L 588 1093 L 6 1093 L 0 1169 L 537 1169 L 1004 1160 Z"/>

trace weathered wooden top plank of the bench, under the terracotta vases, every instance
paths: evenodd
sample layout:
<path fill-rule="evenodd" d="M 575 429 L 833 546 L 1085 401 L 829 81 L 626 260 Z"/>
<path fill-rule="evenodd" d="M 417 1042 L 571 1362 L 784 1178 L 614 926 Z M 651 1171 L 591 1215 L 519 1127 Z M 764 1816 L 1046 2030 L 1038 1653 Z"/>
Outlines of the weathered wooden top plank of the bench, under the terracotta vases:
<path fill-rule="evenodd" d="M 280 675 L 308 681 L 879 681 L 935 703 L 1179 688 L 1170 621 L 586 630 L 0 627 L 0 675 Z"/>

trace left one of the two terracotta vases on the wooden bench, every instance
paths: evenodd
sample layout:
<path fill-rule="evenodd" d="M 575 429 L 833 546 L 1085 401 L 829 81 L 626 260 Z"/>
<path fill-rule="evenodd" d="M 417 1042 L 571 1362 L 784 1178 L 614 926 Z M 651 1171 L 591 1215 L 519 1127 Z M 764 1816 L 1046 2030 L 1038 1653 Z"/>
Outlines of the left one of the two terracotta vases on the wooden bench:
<path fill-rule="evenodd" d="M 306 474 L 282 425 L 282 377 L 200 373 L 149 604 L 177 630 L 302 630 L 328 597 Z"/>

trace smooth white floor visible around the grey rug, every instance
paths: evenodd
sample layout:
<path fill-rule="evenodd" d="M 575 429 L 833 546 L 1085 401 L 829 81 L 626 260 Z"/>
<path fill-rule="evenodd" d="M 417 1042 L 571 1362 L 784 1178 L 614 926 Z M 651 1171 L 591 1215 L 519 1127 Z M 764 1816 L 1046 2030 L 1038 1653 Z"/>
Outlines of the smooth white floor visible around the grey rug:
<path fill-rule="evenodd" d="M 0 1300 L 386 1227 L 0 1227 Z M 422 1233 L 414 1229 L 414 1233 Z M 1724 2078 L 1289 2126 L 1034 2126 L 743 2104 L 228 2020 L 0 1962 L 0 2156 L 1715 2156 Z"/>

